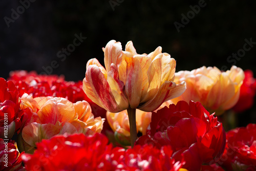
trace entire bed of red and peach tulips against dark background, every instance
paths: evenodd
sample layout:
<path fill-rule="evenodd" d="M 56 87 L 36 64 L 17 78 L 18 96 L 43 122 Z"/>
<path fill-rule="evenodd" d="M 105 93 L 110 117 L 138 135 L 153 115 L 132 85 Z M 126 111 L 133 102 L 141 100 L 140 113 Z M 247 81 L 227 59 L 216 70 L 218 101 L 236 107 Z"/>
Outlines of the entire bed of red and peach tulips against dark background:
<path fill-rule="evenodd" d="M 254 103 L 251 71 L 176 73 L 161 47 L 137 54 L 132 41 L 103 52 L 83 81 L 0 78 L 1 170 L 256 170 L 256 124 L 223 128 Z"/>

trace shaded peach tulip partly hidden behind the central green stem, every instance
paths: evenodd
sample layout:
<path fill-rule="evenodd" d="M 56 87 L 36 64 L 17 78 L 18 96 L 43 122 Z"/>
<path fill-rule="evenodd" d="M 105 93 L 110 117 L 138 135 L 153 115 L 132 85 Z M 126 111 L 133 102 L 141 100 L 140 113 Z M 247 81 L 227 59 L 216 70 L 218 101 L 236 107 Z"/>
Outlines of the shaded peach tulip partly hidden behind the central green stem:
<path fill-rule="evenodd" d="M 131 145 L 130 124 L 127 110 L 111 113 L 106 112 L 106 120 L 108 120 L 111 129 L 115 133 L 115 139 L 121 145 Z M 146 134 L 147 126 L 151 122 L 151 112 L 136 110 L 136 127 L 137 133 Z"/>

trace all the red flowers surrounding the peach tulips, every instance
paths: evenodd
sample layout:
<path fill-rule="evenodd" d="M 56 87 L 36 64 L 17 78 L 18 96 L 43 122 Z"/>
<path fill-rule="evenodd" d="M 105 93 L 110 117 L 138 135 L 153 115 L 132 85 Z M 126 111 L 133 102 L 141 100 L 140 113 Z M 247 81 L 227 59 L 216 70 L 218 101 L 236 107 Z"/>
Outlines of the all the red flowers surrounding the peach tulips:
<path fill-rule="evenodd" d="M 246 72 L 241 99 L 248 95 L 254 97 L 255 81 L 252 78 L 250 72 Z M 0 128 L 3 130 L 3 139 L 7 139 L 4 137 L 4 114 L 8 113 L 9 139 L 15 132 L 21 132 L 32 116 L 31 111 L 20 108 L 18 98 L 25 93 L 33 98 L 64 97 L 74 103 L 87 100 L 92 113 L 104 116 L 105 110 L 82 91 L 81 81 L 68 82 L 63 77 L 37 75 L 26 71 L 12 72 L 8 80 L 0 78 Z M 245 89 L 249 89 L 252 94 L 243 93 L 246 92 Z M 241 107 L 235 106 L 233 109 L 236 108 Z M 247 108 L 249 106 L 244 109 Z M 109 137 L 98 133 L 90 136 L 57 135 L 37 143 L 34 154 L 22 152 L 19 155 L 14 141 L 10 140 L 7 145 L 8 167 L 4 167 L 5 163 L 1 162 L 1 170 L 256 169 L 256 124 L 225 134 L 217 117 L 209 114 L 200 102 L 193 101 L 179 101 L 176 105 L 165 106 L 153 112 L 151 120 L 146 135 L 139 137 L 135 146 L 126 150 L 108 144 Z M 4 161 L 6 147 L 3 139 L 0 140 L 0 158 Z"/>

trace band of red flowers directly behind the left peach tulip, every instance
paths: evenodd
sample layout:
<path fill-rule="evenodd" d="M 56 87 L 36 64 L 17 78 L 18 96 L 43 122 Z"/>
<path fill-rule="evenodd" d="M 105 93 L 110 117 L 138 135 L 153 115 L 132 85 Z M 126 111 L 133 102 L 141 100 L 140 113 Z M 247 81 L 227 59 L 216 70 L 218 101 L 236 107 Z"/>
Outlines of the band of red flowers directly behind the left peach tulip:
<path fill-rule="evenodd" d="M 33 97 L 52 96 L 63 97 L 75 103 L 86 100 L 96 116 L 105 116 L 105 110 L 100 108 L 82 90 L 82 81 L 65 81 L 63 76 L 38 75 L 31 71 L 10 72 L 8 80 L 13 81 L 19 92 L 19 97 L 24 93 L 32 94 Z"/>

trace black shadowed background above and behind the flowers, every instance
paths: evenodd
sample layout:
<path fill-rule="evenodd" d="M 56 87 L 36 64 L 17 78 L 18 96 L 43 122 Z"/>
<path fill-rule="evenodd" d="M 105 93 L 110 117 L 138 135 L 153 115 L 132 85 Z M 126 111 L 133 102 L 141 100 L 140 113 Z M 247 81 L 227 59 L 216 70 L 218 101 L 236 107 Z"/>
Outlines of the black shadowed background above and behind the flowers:
<path fill-rule="evenodd" d="M 132 40 L 141 54 L 161 46 L 177 60 L 176 71 L 202 66 L 230 69 L 236 65 L 256 74 L 256 45 L 240 60 L 227 61 L 228 56 L 243 49 L 245 39 L 256 42 L 256 1 L 206 0 L 206 6 L 180 32 L 174 22 L 182 24 L 181 14 L 186 16 L 190 5 L 199 1 L 33 1 L 10 27 L 4 17 L 11 18 L 11 9 L 17 11 L 22 4 L 0 1 L 1 77 L 7 78 L 12 70 L 41 73 L 42 67 L 56 60 L 59 67 L 52 74 L 82 80 L 90 58 L 97 58 L 103 65 L 101 48 L 111 39 L 120 41 L 123 48 Z M 117 3 L 114 10 L 110 2 Z M 61 61 L 57 52 L 73 44 L 74 34 L 80 33 L 87 39 Z M 245 120 L 255 122 L 255 109 L 249 112 L 250 118 Z"/>

